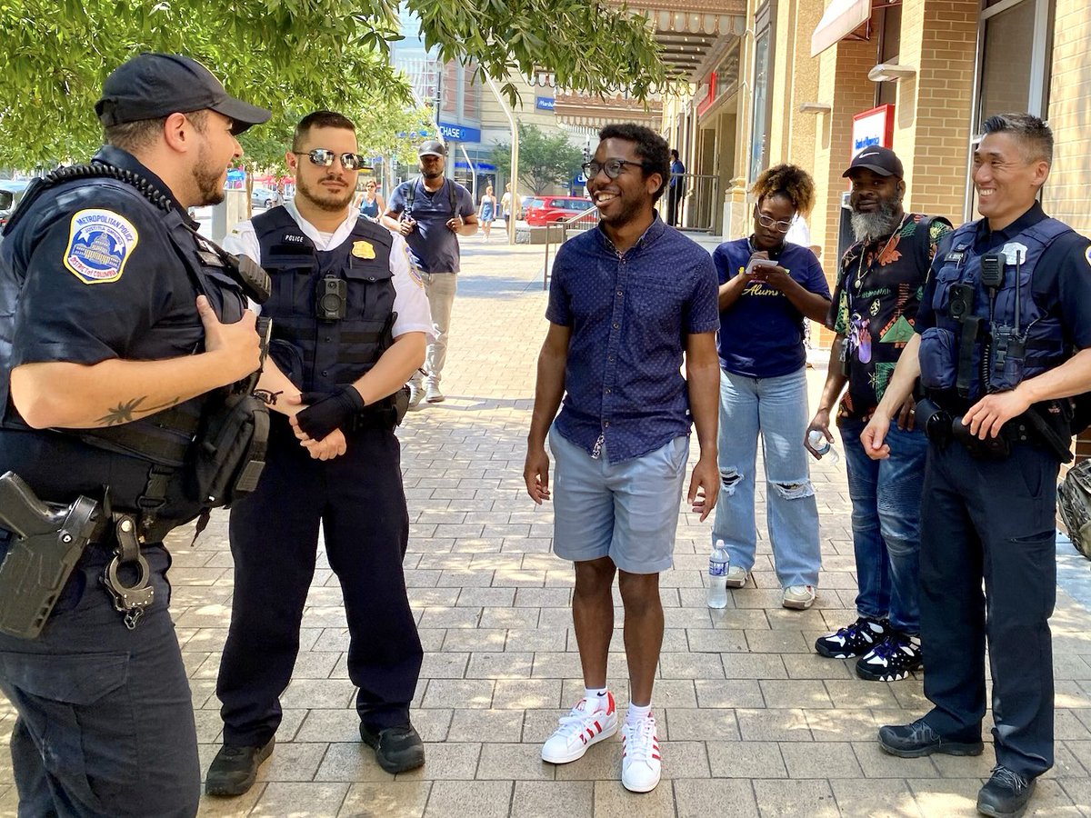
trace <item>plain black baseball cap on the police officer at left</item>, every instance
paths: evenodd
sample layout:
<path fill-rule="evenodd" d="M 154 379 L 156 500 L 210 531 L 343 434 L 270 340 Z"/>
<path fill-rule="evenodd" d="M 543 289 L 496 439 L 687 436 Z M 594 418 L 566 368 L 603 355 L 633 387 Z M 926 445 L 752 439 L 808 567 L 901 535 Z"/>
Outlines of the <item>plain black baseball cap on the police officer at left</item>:
<path fill-rule="evenodd" d="M 196 60 L 148 51 L 118 65 L 103 83 L 103 98 L 95 103 L 95 113 L 106 127 L 206 108 L 229 117 L 235 135 L 273 116 L 230 96 Z"/>

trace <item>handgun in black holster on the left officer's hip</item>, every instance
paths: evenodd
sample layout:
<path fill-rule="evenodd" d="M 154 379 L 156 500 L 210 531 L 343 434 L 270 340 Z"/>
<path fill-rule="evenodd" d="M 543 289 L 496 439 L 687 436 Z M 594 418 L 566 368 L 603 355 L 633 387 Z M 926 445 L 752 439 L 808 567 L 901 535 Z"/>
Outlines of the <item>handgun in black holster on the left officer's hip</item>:
<path fill-rule="evenodd" d="M 0 564 L 0 633 L 34 639 L 99 528 L 98 502 L 44 503 L 12 471 L 0 477 L 0 527 L 12 532 Z"/>

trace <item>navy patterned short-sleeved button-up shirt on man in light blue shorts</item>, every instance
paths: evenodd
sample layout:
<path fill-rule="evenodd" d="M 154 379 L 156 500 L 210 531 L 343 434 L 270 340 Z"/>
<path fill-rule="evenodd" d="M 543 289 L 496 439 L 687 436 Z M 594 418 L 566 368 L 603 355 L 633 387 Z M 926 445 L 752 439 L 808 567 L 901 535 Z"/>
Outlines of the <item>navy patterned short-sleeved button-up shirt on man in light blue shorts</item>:
<path fill-rule="evenodd" d="M 558 251 L 546 317 L 572 327 L 556 429 L 588 453 L 602 435 L 611 462 L 688 434 L 686 336 L 719 326 L 708 252 L 659 216 L 624 255 L 602 229 Z"/>

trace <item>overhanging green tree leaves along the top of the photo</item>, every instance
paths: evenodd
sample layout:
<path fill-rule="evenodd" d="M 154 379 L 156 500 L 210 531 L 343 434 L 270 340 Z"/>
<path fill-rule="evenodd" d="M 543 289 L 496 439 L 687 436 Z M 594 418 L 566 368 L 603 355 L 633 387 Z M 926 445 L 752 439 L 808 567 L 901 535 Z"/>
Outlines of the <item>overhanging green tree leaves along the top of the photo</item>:
<path fill-rule="evenodd" d="M 383 103 L 408 101 L 387 53 L 403 5 L 444 59 L 497 79 L 541 68 L 565 88 L 642 98 L 663 82 L 645 17 L 597 0 L 0 0 L 0 166 L 86 158 L 103 81 L 145 50 L 201 60 L 286 122 L 315 108 L 361 125 L 392 116 Z"/>

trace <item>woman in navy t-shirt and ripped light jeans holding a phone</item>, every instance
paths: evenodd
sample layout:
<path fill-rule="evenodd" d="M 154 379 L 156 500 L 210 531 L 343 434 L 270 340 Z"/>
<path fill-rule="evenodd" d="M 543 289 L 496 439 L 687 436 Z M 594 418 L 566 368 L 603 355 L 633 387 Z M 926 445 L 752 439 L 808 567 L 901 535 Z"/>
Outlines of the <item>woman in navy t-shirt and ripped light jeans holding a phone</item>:
<path fill-rule="evenodd" d="M 765 460 L 769 539 L 784 608 L 815 600 L 822 553 L 818 508 L 803 435 L 807 426 L 804 320 L 824 322 L 829 287 L 815 254 L 784 241 L 796 214 L 814 205 L 814 182 L 794 165 L 769 168 L 754 183 L 754 232 L 720 244 L 720 476 L 712 540 L 731 556 L 728 586 L 754 567 L 757 441 Z"/>

